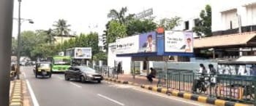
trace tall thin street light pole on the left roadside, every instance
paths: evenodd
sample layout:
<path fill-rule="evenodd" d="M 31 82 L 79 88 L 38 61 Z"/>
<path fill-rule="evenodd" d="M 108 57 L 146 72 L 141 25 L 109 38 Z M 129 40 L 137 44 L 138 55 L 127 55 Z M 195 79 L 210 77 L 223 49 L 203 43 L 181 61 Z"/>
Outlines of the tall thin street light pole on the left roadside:
<path fill-rule="evenodd" d="M 17 54 L 17 79 L 20 79 L 20 3 L 21 0 L 18 0 L 18 54 Z"/>

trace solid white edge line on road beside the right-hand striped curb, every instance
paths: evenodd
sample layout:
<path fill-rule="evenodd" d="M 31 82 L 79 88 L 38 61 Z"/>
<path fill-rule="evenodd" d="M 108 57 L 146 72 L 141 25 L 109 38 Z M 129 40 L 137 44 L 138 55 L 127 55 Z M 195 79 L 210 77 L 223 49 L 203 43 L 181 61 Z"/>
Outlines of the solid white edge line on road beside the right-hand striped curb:
<path fill-rule="evenodd" d="M 135 88 L 133 88 L 133 89 L 135 89 Z M 139 88 L 139 89 L 136 88 L 135 90 L 137 90 L 137 91 L 143 91 L 143 92 L 146 92 L 146 93 L 148 93 L 148 94 L 157 95 L 157 96 L 159 96 L 159 97 L 163 97 L 163 98 L 167 98 L 167 99 L 173 99 L 173 100 L 176 100 L 176 101 L 179 101 L 179 102 L 185 102 L 185 103 L 192 104 L 192 105 L 197 105 L 197 106 L 203 105 L 203 104 L 200 104 L 200 105 L 199 105 L 198 102 L 189 102 L 189 100 L 183 100 L 182 98 L 173 97 L 173 96 L 167 96 L 166 94 L 162 95 L 162 94 L 159 94 L 159 93 L 155 93 L 155 92 L 153 92 L 153 91 L 148 91 L 148 90 L 145 91 L 144 89 L 142 90 L 142 89 L 140 89 L 140 88 Z"/>

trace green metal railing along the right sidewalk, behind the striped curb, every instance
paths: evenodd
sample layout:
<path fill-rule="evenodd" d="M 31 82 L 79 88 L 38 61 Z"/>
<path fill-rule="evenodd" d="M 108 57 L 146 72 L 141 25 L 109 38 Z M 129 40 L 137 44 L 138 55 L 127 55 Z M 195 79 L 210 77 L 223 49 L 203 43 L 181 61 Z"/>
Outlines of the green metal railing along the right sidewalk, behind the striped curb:
<path fill-rule="evenodd" d="M 157 74 L 159 87 L 256 105 L 256 76 L 202 76 L 192 70 L 168 70 Z"/>

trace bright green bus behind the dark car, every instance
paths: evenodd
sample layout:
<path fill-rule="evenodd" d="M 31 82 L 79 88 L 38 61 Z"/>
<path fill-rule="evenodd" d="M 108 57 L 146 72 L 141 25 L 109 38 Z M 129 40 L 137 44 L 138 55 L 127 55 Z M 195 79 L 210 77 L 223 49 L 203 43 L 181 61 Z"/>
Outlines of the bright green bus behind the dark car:
<path fill-rule="evenodd" d="M 52 58 L 52 71 L 65 72 L 71 67 L 71 57 L 69 56 L 54 56 Z"/>

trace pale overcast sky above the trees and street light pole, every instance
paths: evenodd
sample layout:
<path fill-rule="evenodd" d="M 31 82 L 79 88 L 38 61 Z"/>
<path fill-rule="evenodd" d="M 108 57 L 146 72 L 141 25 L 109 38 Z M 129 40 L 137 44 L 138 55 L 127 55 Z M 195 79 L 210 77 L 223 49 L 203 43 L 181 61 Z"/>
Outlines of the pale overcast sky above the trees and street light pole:
<path fill-rule="evenodd" d="M 209 0 L 22 0 L 21 17 L 34 20 L 34 24 L 22 23 L 21 30 L 53 28 L 56 20 L 64 19 L 77 33 L 97 31 L 102 33 L 108 22 L 110 9 L 127 7 L 128 13 L 138 13 L 153 8 L 154 16 L 179 16 L 184 20 L 197 17 Z M 18 0 L 15 0 L 13 17 L 18 17 Z M 17 21 L 13 22 L 13 36 L 17 36 Z M 98 26 L 97 28 L 94 26 Z M 91 26 L 91 28 L 89 28 Z"/>

